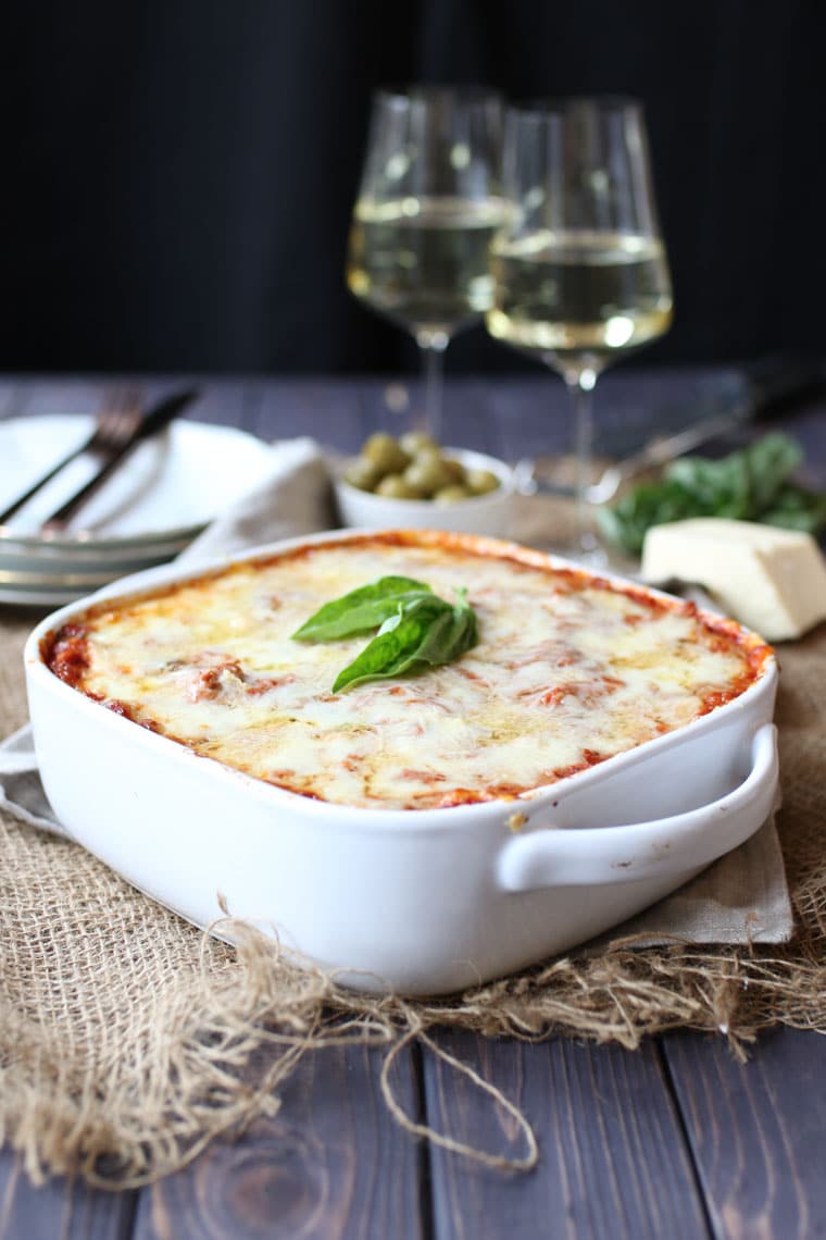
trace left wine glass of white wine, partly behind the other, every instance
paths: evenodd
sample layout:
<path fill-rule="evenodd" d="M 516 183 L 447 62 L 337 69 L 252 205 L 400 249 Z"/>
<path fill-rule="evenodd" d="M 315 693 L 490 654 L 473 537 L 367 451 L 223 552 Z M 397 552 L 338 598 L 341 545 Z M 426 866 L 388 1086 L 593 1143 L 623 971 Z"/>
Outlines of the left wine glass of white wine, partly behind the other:
<path fill-rule="evenodd" d="M 347 283 L 416 340 L 425 377 L 419 428 L 436 440 L 443 352 L 493 301 L 488 246 L 505 210 L 500 155 L 495 94 L 414 86 L 373 97 Z"/>

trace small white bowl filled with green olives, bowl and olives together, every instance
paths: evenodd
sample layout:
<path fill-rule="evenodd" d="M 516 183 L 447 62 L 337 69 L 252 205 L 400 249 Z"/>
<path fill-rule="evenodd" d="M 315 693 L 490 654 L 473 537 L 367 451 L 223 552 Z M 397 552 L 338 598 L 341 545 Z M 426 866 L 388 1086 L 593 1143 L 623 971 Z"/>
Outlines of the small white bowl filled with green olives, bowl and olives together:
<path fill-rule="evenodd" d="M 334 487 L 346 526 L 509 533 L 513 470 L 494 456 L 442 448 L 426 435 L 370 435 L 342 464 Z"/>

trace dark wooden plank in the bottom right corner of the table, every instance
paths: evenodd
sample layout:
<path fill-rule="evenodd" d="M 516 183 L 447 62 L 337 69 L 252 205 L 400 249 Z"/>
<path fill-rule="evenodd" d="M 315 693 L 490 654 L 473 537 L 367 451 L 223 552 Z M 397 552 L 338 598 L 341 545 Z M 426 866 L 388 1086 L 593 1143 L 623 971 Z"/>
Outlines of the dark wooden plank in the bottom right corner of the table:
<path fill-rule="evenodd" d="M 715 1235 L 826 1235 L 826 1038 L 763 1034 L 746 1064 L 722 1037 L 664 1048 Z"/>

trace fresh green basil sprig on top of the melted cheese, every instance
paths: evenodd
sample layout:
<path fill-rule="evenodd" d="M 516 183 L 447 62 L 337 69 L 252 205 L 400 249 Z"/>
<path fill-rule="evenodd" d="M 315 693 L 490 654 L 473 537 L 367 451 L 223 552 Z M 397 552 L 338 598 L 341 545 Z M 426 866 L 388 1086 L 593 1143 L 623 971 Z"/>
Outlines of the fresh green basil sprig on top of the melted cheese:
<path fill-rule="evenodd" d="M 333 693 L 364 681 L 450 663 L 479 641 L 467 590 L 457 603 L 411 577 L 381 577 L 326 603 L 292 634 L 295 641 L 337 641 L 378 629 L 375 637 L 336 677 Z"/>

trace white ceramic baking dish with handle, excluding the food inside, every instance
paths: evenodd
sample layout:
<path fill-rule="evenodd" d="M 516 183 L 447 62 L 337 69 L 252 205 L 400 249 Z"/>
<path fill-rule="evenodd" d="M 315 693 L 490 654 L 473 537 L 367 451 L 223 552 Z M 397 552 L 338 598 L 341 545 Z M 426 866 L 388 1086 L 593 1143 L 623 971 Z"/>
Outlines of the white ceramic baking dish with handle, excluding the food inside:
<path fill-rule="evenodd" d="M 150 569 L 98 598 L 201 572 Z M 25 651 L 61 821 L 188 920 L 209 925 L 225 900 L 346 985 L 447 993 L 565 951 L 742 843 L 774 804 L 773 657 L 741 697 L 516 802 L 362 810 L 222 766 L 64 684 L 41 644 L 83 606 L 45 619 Z"/>

